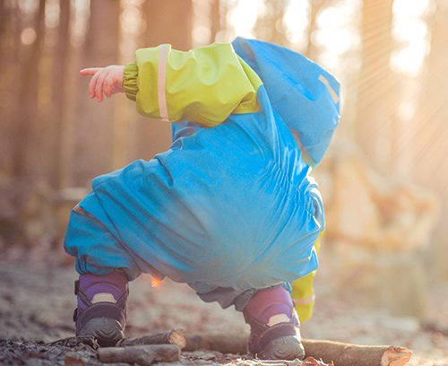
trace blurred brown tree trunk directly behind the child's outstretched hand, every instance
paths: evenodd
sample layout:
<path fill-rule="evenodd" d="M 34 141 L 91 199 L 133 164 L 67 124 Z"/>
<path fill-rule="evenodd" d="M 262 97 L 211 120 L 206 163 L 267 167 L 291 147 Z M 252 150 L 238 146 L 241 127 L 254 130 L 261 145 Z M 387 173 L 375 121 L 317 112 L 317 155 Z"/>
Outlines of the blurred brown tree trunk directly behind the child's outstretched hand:
<path fill-rule="evenodd" d="M 119 0 L 90 2 L 89 28 L 82 67 L 114 65 L 118 59 Z M 114 101 L 89 100 L 87 79 L 82 83 L 75 129 L 73 183 L 86 186 L 99 173 L 112 170 Z"/>

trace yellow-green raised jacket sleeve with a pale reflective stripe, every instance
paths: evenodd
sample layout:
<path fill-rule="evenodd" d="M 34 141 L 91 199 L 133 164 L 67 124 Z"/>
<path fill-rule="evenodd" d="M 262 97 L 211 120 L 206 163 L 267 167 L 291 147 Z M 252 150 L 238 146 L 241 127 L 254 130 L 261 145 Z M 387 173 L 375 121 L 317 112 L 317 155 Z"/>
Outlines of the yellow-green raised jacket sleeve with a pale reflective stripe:
<path fill-rule="evenodd" d="M 217 126 L 232 113 L 259 109 L 261 79 L 229 43 L 187 52 L 170 45 L 142 48 L 126 65 L 124 87 L 144 116 Z"/>

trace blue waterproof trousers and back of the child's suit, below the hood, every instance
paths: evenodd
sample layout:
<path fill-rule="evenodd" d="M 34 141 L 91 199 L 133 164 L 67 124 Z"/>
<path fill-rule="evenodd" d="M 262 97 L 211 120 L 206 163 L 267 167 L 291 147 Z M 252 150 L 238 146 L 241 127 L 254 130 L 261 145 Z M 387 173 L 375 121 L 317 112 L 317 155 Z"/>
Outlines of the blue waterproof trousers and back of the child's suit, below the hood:
<path fill-rule="evenodd" d="M 167 275 L 243 309 L 256 289 L 314 271 L 322 200 L 260 89 L 260 112 L 182 123 L 167 152 L 92 181 L 65 236 L 80 274 Z"/>

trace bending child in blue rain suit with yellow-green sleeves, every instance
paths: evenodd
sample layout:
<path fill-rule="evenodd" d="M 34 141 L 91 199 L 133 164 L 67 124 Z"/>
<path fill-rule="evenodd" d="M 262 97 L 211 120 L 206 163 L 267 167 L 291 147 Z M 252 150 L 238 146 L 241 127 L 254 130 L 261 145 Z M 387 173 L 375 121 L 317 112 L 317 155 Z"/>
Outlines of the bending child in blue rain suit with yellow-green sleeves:
<path fill-rule="evenodd" d="M 304 355 L 290 284 L 314 271 L 323 205 L 308 176 L 339 120 L 339 84 L 287 48 L 235 39 L 188 52 L 136 51 L 89 68 L 90 98 L 125 92 L 174 122 L 173 144 L 92 181 L 72 212 L 77 335 L 124 336 L 127 282 L 148 273 L 234 305 L 262 359 Z"/>

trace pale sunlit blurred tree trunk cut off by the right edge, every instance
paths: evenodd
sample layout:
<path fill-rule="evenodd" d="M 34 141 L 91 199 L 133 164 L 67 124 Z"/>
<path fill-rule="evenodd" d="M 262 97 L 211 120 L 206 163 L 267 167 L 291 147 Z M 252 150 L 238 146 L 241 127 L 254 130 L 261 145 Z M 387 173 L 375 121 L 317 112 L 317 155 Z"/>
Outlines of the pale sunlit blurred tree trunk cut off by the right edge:
<path fill-rule="evenodd" d="M 431 48 L 426 72 L 420 88 L 420 100 L 416 107 L 417 123 L 413 130 L 411 148 L 414 164 L 414 179 L 421 185 L 432 187 L 439 193 L 442 213 L 448 210 L 448 83 L 446 83 L 446 60 L 448 59 L 448 2 L 435 0 L 435 12 L 429 18 Z M 448 266 L 441 258 L 448 256 L 448 217 L 442 215 L 442 222 L 435 232 L 430 258 L 435 274 L 448 278 Z M 428 238 L 429 240 L 429 238 Z"/>

